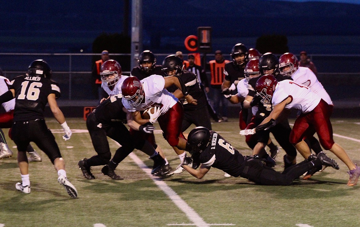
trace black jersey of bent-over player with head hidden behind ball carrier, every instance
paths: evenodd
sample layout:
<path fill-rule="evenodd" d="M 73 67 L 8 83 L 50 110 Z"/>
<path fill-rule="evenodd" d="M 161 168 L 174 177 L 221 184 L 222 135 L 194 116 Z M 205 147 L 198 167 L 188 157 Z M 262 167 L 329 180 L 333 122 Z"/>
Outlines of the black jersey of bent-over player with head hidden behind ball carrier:
<path fill-rule="evenodd" d="M 96 121 L 102 124 L 111 124 L 113 121 L 125 122 L 126 112 L 123 111 L 121 99 L 121 94 L 118 94 L 100 103 L 94 111 Z"/>

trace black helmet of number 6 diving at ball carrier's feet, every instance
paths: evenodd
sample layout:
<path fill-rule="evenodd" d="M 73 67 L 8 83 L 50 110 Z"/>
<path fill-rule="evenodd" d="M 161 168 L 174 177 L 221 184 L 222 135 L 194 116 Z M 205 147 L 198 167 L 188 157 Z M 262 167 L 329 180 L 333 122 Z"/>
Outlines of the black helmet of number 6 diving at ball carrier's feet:
<path fill-rule="evenodd" d="M 194 154 L 197 152 L 202 152 L 210 143 L 210 131 L 205 127 L 196 127 L 190 131 L 188 135 L 187 145 L 191 148 L 189 150 L 190 154 Z"/>

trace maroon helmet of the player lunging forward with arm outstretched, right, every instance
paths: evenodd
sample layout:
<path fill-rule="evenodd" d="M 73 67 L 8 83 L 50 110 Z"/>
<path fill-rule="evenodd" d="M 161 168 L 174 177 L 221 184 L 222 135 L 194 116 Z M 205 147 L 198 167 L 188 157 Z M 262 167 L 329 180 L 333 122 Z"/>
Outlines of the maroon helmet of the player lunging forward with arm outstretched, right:
<path fill-rule="evenodd" d="M 257 80 L 255 89 L 262 97 L 262 103 L 265 105 L 271 104 L 271 98 L 273 97 L 277 84 L 278 80 L 276 80 L 273 75 L 263 75 Z"/>

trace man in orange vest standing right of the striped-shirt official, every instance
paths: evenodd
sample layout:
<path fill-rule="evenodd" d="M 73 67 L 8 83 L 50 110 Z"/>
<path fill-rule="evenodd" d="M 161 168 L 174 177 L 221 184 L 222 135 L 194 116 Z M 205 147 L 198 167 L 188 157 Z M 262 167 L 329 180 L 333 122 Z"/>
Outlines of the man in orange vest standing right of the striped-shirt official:
<path fill-rule="evenodd" d="M 221 121 L 228 121 L 228 100 L 221 94 L 221 84 L 224 80 L 224 68 L 225 64 L 230 62 L 229 60 L 225 60 L 222 56 L 222 52 L 220 50 L 215 51 L 215 60 L 211 60 L 210 71 L 211 71 L 211 88 L 213 89 L 213 107 L 215 108 L 215 112 L 220 115 L 222 119 Z M 222 111 L 220 111 L 220 103 L 222 106 Z"/>

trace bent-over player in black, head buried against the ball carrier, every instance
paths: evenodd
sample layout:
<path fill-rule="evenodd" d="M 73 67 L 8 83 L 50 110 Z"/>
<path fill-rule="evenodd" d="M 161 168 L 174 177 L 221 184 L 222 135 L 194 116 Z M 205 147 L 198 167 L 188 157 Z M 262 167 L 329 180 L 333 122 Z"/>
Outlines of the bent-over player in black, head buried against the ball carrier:
<path fill-rule="evenodd" d="M 97 155 L 89 159 L 82 159 L 78 162 L 86 179 L 95 179 L 91 173 L 91 166 L 105 165 L 101 172 L 104 175 L 111 177 L 114 180 L 123 180 L 115 173 L 115 168 L 124 158 L 126 158 L 135 148 L 148 154 L 154 160 L 152 174 L 157 173 L 163 165 L 165 160 L 155 151 L 154 147 L 143 138 L 130 135 L 129 130 L 123 124 L 134 130 L 140 130 L 144 133 L 152 133 L 154 126 L 139 125 L 131 119 L 131 114 L 124 110 L 121 102 L 121 94 L 114 95 L 105 99 L 96 109 L 87 116 L 86 128 L 89 130 L 91 142 L 95 148 Z M 118 148 L 111 159 L 111 152 L 107 136 L 115 140 L 122 146 Z"/>

